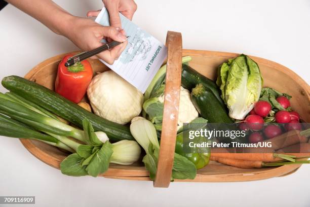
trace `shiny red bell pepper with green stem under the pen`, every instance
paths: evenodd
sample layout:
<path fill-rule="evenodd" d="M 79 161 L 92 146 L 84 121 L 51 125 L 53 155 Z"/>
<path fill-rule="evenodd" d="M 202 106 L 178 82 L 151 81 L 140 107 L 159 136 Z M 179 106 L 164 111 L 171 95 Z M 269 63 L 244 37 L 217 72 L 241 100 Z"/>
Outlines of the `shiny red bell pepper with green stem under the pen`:
<path fill-rule="evenodd" d="M 63 97 L 78 103 L 84 97 L 93 77 L 93 70 L 88 60 L 66 67 L 64 64 L 73 55 L 66 55 L 58 65 L 55 90 Z"/>

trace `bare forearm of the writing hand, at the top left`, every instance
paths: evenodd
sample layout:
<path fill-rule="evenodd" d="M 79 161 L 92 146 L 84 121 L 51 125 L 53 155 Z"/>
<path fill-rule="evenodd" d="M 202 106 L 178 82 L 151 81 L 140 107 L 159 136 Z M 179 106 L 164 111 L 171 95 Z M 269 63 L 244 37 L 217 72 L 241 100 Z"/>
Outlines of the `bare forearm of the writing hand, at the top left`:
<path fill-rule="evenodd" d="M 68 22 L 73 17 L 51 0 L 6 0 L 8 3 L 37 19 L 52 31 L 65 36 Z"/>

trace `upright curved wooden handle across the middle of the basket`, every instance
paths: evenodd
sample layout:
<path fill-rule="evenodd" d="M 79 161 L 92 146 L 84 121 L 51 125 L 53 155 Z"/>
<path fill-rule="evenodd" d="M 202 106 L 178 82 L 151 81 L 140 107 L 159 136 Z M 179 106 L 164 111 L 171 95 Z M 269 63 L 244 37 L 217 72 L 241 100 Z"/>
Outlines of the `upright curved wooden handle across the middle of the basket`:
<path fill-rule="evenodd" d="M 166 38 L 167 72 L 164 99 L 163 129 L 154 187 L 169 187 L 180 103 L 182 72 L 182 36 L 179 32 L 168 31 Z"/>

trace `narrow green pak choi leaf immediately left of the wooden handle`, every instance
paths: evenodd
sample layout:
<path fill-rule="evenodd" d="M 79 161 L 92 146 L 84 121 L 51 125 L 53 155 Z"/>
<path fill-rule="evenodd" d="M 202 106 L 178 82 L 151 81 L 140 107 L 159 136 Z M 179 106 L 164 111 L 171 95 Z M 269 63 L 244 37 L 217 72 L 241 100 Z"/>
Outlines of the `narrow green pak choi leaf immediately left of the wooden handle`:
<path fill-rule="evenodd" d="M 148 146 L 148 152 L 143 157 L 142 162 L 145 165 L 145 168 L 149 171 L 150 180 L 154 180 L 157 172 L 157 162 L 159 156 L 159 149 L 153 149 L 153 145 L 150 143 Z"/>

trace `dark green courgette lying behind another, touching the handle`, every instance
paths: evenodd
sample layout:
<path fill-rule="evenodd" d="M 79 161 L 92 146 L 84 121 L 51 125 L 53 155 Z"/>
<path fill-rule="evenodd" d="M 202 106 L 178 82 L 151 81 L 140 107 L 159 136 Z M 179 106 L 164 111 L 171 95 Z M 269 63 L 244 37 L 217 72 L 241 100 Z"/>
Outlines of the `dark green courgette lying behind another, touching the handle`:
<path fill-rule="evenodd" d="M 195 88 L 199 83 L 204 84 L 206 88 L 211 90 L 220 105 L 226 110 L 226 105 L 221 98 L 220 89 L 216 83 L 211 79 L 201 75 L 190 66 L 182 64 L 182 86 L 191 91 L 191 89 Z"/>

